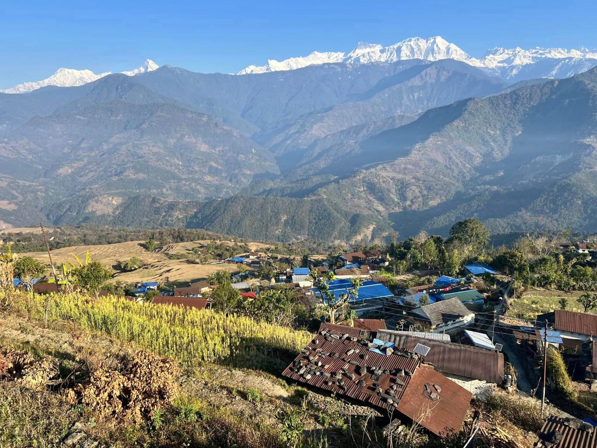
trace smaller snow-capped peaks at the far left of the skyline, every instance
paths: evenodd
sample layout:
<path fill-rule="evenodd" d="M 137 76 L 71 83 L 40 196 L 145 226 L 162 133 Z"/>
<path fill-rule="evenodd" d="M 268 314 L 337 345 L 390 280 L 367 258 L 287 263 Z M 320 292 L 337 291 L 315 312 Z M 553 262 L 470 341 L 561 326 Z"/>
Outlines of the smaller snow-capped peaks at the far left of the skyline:
<path fill-rule="evenodd" d="M 155 62 L 147 59 L 139 68 L 122 72 L 128 76 L 137 75 L 137 73 L 151 72 L 159 67 Z M 0 93 L 27 93 L 37 90 L 40 87 L 47 85 L 57 85 L 59 87 L 72 87 L 74 85 L 83 85 L 88 82 L 96 81 L 96 79 L 103 78 L 106 75 L 111 75 L 112 72 L 100 73 L 97 75 L 91 70 L 75 70 L 60 68 L 56 70 L 54 75 L 36 82 L 24 82 L 23 84 L 15 85 L 14 87 L 0 90 Z"/>

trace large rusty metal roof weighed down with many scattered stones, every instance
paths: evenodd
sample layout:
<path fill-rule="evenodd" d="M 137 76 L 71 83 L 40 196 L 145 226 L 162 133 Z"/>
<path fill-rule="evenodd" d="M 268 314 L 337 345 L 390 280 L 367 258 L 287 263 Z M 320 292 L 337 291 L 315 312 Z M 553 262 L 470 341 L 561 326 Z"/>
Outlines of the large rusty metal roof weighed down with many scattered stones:
<path fill-rule="evenodd" d="M 282 375 L 389 414 L 399 412 L 437 435 L 460 431 L 470 392 L 421 364 L 414 352 L 338 330 L 322 324 Z"/>

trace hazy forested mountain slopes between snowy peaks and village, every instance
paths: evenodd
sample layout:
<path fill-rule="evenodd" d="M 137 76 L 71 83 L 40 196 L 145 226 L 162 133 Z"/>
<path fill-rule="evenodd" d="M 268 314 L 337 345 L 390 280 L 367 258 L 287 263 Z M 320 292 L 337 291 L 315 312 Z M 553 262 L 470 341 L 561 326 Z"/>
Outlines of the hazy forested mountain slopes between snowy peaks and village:
<path fill-rule="evenodd" d="M 411 59 L 0 94 L 0 220 L 351 243 L 467 217 L 592 231 L 596 93 L 597 68 L 509 85 Z"/>

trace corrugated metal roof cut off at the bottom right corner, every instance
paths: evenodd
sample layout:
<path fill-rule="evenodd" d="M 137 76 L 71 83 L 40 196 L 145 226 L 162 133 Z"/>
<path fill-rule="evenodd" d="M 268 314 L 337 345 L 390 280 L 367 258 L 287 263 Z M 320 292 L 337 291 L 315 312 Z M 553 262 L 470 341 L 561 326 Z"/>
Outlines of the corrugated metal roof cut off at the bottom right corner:
<path fill-rule="evenodd" d="M 576 421 L 577 419 L 573 419 Z M 583 431 L 583 429 L 574 429 L 570 426 L 570 420 L 564 417 L 556 417 L 554 415 L 549 416 L 541 432 L 537 437 L 537 440 L 533 444 L 536 447 L 550 448 L 597 448 L 597 431 L 592 428 L 592 431 Z M 577 426 L 578 422 L 575 422 Z M 590 426 L 590 424 L 587 424 Z M 561 434 L 561 440 L 555 444 L 549 444 L 551 441 L 556 440 L 559 436 L 556 433 Z M 556 437 L 556 439 L 553 439 Z"/>

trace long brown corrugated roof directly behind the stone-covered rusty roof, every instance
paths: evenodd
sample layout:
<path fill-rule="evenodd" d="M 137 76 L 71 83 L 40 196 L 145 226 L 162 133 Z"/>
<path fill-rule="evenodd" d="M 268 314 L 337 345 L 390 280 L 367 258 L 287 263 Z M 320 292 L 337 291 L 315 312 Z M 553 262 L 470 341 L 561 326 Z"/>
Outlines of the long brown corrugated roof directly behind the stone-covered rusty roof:
<path fill-rule="evenodd" d="M 412 351 L 417 343 L 431 347 L 424 362 L 433 364 L 440 372 L 501 384 L 504 380 L 504 355 L 497 351 L 471 345 L 422 339 L 408 335 L 377 333 L 377 339 L 393 342 L 396 348 Z"/>

